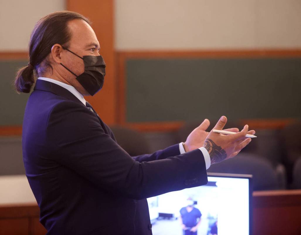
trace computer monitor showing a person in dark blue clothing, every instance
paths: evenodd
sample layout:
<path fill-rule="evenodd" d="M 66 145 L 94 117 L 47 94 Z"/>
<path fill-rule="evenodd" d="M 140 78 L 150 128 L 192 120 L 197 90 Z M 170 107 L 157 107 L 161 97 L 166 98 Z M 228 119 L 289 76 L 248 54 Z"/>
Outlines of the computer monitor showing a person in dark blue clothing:
<path fill-rule="evenodd" d="M 205 186 L 147 198 L 153 235 L 252 234 L 252 175 L 207 174 Z"/>

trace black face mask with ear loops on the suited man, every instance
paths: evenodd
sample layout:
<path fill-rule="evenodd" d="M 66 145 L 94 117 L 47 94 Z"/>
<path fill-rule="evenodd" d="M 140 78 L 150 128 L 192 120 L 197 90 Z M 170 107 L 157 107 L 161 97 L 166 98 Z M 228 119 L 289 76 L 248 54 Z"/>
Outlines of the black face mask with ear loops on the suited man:
<path fill-rule="evenodd" d="M 68 50 L 67 48 L 63 49 L 71 52 L 72 54 L 76 55 L 74 52 Z M 83 56 L 79 58 L 84 60 L 85 64 L 85 71 L 77 76 L 75 73 L 70 71 L 65 65 L 61 63 L 61 65 L 66 68 L 70 73 L 76 76 L 76 80 L 85 88 L 86 91 L 90 95 L 94 95 L 98 92 L 102 86 L 104 85 L 104 75 L 106 75 L 105 67 L 106 64 L 104 63 L 104 59 L 102 56 Z"/>

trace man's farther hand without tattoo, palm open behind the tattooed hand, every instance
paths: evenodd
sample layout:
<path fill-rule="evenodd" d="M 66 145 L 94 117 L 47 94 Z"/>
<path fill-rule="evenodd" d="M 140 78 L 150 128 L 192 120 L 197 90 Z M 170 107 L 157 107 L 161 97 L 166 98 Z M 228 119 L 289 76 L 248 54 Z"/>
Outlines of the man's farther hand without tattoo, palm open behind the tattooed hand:
<path fill-rule="evenodd" d="M 209 134 L 209 132 L 206 132 L 209 125 L 210 125 L 209 120 L 205 119 L 201 125 L 199 125 L 188 135 L 184 143 L 184 148 L 186 152 L 203 147 L 204 141 Z M 238 132 L 239 130 L 238 128 L 229 128 L 229 129 L 225 129 L 225 131 Z M 255 133 L 255 131 L 250 131 L 248 132 L 248 134 L 252 134 L 253 132 Z"/>

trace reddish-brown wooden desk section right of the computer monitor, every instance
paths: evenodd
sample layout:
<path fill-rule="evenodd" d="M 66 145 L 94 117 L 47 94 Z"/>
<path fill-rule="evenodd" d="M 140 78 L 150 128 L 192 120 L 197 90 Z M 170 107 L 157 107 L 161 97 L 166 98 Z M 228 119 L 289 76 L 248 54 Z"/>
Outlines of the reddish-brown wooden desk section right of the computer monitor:
<path fill-rule="evenodd" d="M 301 234 L 301 190 L 253 192 L 253 235 L 268 234 Z"/>

